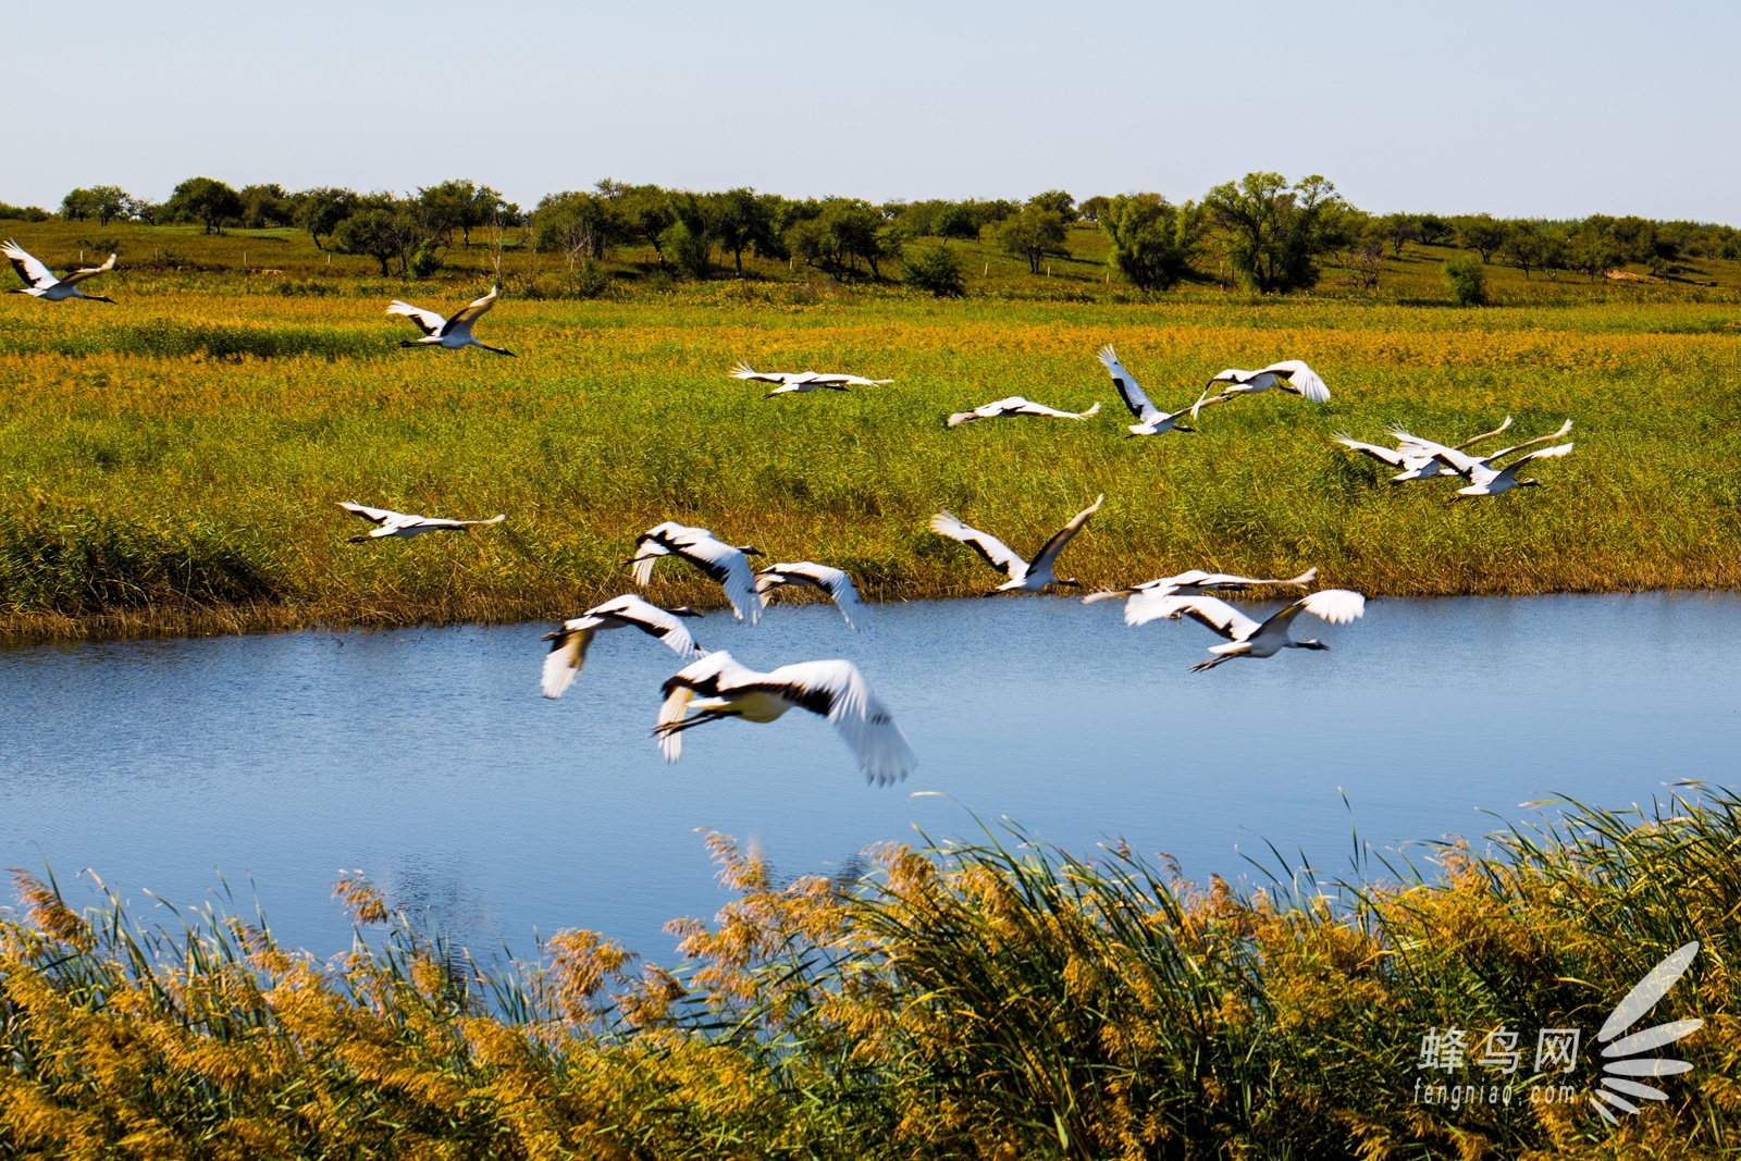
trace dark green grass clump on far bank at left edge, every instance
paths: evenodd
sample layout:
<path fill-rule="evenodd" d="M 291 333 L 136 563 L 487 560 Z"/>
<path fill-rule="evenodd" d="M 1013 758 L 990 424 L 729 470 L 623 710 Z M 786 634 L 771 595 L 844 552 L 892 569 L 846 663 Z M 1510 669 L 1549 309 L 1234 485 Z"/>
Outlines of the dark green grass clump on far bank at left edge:
<path fill-rule="evenodd" d="M 284 595 L 259 541 L 209 520 L 138 524 L 59 507 L 0 519 L 0 609 L 12 614 L 247 606 Z"/>

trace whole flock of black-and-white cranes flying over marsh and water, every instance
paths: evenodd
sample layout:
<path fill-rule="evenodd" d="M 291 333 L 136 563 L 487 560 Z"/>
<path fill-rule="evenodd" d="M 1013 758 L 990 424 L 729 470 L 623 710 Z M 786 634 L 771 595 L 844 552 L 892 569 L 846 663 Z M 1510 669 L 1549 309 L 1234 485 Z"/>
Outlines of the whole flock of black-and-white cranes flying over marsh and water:
<path fill-rule="evenodd" d="M 54 273 L 16 242 L 7 242 L 0 252 L 10 259 L 14 270 L 26 282 L 16 292 L 31 294 L 47 301 L 84 298 L 91 301 L 111 301 L 108 298 L 85 294 L 78 284 L 94 275 L 115 268 L 115 256 L 101 266 L 78 268 L 56 279 Z M 437 346 L 442 350 L 463 350 L 479 346 L 498 355 L 514 352 L 491 346 L 472 334 L 474 324 L 482 319 L 496 303 L 496 289 L 474 299 L 451 319 L 434 310 L 413 303 L 393 299 L 387 313 L 404 315 L 418 325 L 423 338 L 404 341 L 402 346 Z M 1099 359 L 1112 378 L 1112 386 L 1135 423 L 1128 425 L 1128 437 L 1165 435 L 1168 432 L 1194 432 L 1182 423 L 1189 416 L 1191 423 L 1205 407 L 1226 404 L 1229 400 L 1259 395 L 1271 388 L 1299 395 L 1313 404 L 1330 399 L 1330 388 L 1304 362 L 1297 359 L 1269 364 L 1257 371 L 1229 367 L 1208 379 L 1198 399 L 1177 411 L 1156 407 L 1142 386 L 1119 362 L 1111 345 L 1099 350 Z M 862 386 L 886 386 L 891 379 L 870 379 L 858 374 L 817 372 L 817 371 L 756 371 L 747 362 L 731 369 L 731 376 L 750 383 L 770 385 L 766 397 L 808 393 L 815 390 L 846 392 Z M 1210 393 L 1213 392 L 1213 393 Z M 947 426 L 956 428 L 980 419 L 1010 418 L 1045 418 L 1045 419 L 1088 419 L 1100 411 L 1095 402 L 1086 411 L 1072 413 L 1036 404 L 1022 395 L 999 399 L 971 411 L 959 411 L 947 418 Z M 1391 437 L 1395 447 L 1367 444 L 1349 435 L 1337 435 L 1335 442 L 1370 456 L 1398 473 L 1391 477 L 1396 484 L 1452 477 L 1464 482 L 1452 500 L 1476 496 L 1499 496 L 1516 487 L 1532 487 L 1539 480 L 1518 479 L 1518 470 L 1539 460 L 1560 458 L 1572 451 L 1572 444 L 1537 447 L 1570 432 L 1570 419 L 1549 435 L 1543 435 L 1522 444 L 1502 447 L 1490 454 L 1475 454 L 1476 444 L 1504 433 L 1511 426 L 1511 418 L 1492 432 L 1483 432 L 1461 444 L 1440 444 L 1422 439 L 1407 430 L 1396 428 Z M 1536 451 L 1527 451 L 1537 447 Z M 1520 454 L 1511 463 L 1497 461 Z M 1038 594 L 1046 588 L 1079 588 L 1074 576 L 1057 574 L 1059 557 L 1071 541 L 1083 531 L 1088 520 L 1100 510 L 1106 496 L 1069 519 L 1064 527 L 1053 533 L 1032 557 L 1024 557 L 991 533 L 965 524 L 951 512 L 938 512 L 931 517 L 930 527 L 938 536 L 956 540 L 977 552 L 1003 581 L 985 592 L 998 594 Z M 498 513 L 489 519 L 460 520 L 447 517 L 427 517 L 390 508 L 371 508 L 367 505 L 341 501 L 339 507 L 374 527 L 362 536 L 350 538 L 352 543 L 364 543 L 383 538 L 407 538 L 434 531 L 458 531 L 500 524 L 507 519 Z M 667 520 L 635 538 L 634 554 L 625 560 L 637 587 L 646 587 L 653 580 L 653 567 L 663 557 L 686 562 L 702 571 L 710 581 L 719 585 L 726 604 L 740 621 L 756 625 L 770 606 L 773 595 L 782 588 L 808 588 L 822 594 L 839 609 L 848 628 L 858 630 L 869 623 L 869 607 L 860 599 L 851 576 L 839 567 L 813 560 L 778 562 L 763 569 L 752 569 L 749 559 L 761 557 L 754 545 L 733 545 L 717 538 L 705 527 L 693 527 Z M 1309 613 L 1330 625 L 1346 625 L 1365 613 L 1365 597 L 1346 588 L 1321 588 L 1313 592 L 1318 569 L 1307 569 L 1292 578 L 1252 578 L 1227 573 L 1207 573 L 1191 569 L 1173 576 L 1135 583 L 1123 588 L 1093 592 L 1083 597 L 1083 604 L 1123 599 L 1125 623 L 1132 627 L 1154 620 L 1193 620 L 1215 635 L 1222 644 L 1210 646 L 1210 658 L 1191 667 L 1201 672 L 1224 665 L 1236 658 L 1262 660 L 1283 649 L 1328 649 L 1330 646 L 1316 639 L 1295 641 L 1292 625 Z M 1304 595 L 1285 604 L 1266 620 L 1257 621 L 1222 595 L 1243 594 L 1260 588 L 1295 588 Z M 834 726 L 848 748 L 858 759 L 865 776 L 874 782 L 891 782 L 904 778 L 914 768 L 912 747 L 888 712 L 876 691 L 865 682 L 858 668 L 846 660 L 801 661 L 782 665 L 770 672 L 757 672 L 740 665 L 729 653 L 709 653 L 696 644 L 686 621 L 702 613 L 681 606 L 662 607 L 637 594 L 623 594 L 597 604 L 578 618 L 564 621 L 557 630 L 545 635 L 550 651 L 543 661 L 540 689 L 547 698 L 561 698 L 580 674 L 587 661 L 587 651 L 597 634 L 613 628 L 637 628 L 656 639 L 677 654 L 682 667 L 663 682 L 663 701 L 653 726 L 660 750 L 669 761 L 677 761 L 682 754 L 682 735 L 696 726 L 712 721 L 736 717 L 750 722 L 771 722 L 789 710 L 803 708 L 818 714 Z"/>

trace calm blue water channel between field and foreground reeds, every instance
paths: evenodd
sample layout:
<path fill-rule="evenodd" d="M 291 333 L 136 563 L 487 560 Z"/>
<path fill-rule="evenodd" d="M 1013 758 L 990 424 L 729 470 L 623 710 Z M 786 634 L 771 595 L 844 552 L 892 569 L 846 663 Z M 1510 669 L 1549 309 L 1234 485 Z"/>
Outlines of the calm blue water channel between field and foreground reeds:
<path fill-rule="evenodd" d="M 63 884 L 91 867 L 141 912 L 146 889 L 211 900 L 221 870 L 322 954 L 350 933 L 327 884 L 362 869 L 474 947 L 587 926 L 665 956 L 667 919 L 724 898 L 696 829 L 829 872 L 914 825 L 970 834 L 971 809 L 1076 849 L 1123 836 L 1203 879 L 1264 839 L 1341 870 L 1339 790 L 1382 848 L 1480 836 L 1480 809 L 1553 792 L 1624 806 L 1736 782 L 1734 594 L 1372 602 L 1348 627 L 1302 618 L 1330 653 L 1196 675 L 1207 630 L 1132 630 L 1114 602 L 888 606 L 865 634 L 817 606 L 691 625 L 756 668 L 855 660 L 918 773 L 865 785 L 806 714 L 705 726 L 667 766 L 648 729 L 676 658 L 630 630 L 561 701 L 538 696 L 543 625 L 26 648 L 0 651 L 0 862 Z"/>

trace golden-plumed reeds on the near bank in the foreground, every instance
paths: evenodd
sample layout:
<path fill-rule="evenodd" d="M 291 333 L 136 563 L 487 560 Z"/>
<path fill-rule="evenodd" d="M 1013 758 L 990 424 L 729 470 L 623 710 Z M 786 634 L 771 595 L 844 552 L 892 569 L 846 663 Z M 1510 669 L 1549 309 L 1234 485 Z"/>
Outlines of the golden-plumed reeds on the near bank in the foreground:
<path fill-rule="evenodd" d="M 0 1158 L 1727 1158 L 1741 1152 L 1741 797 L 1435 848 L 1431 874 L 1184 882 L 1018 830 L 886 846 L 736 898 L 662 968 L 594 933 L 484 966 L 338 884 L 374 931 L 329 964 L 214 912 L 145 929 L 19 874 L 0 919 Z M 1607 1126 L 1593 1029 L 1703 947 L 1652 1023 L 1694 1070 Z M 1417 1098 L 1422 1036 L 1475 1030 Z M 1492 1029 L 1584 1029 L 1570 1072 L 1473 1064 Z M 1546 1088 L 1555 1098 L 1525 1093 Z"/>

